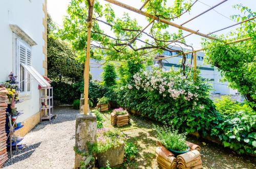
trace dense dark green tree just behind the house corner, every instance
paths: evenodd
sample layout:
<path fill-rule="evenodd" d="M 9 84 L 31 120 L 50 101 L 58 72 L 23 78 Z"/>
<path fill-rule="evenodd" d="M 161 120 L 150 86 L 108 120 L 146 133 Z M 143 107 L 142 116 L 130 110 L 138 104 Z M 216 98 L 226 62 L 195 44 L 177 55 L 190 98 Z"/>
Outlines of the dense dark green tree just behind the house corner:
<path fill-rule="evenodd" d="M 56 30 L 50 15 L 47 19 L 47 64 L 48 77 L 55 81 L 81 81 L 83 64 L 79 62 L 70 44 L 55 37 Z"/>

